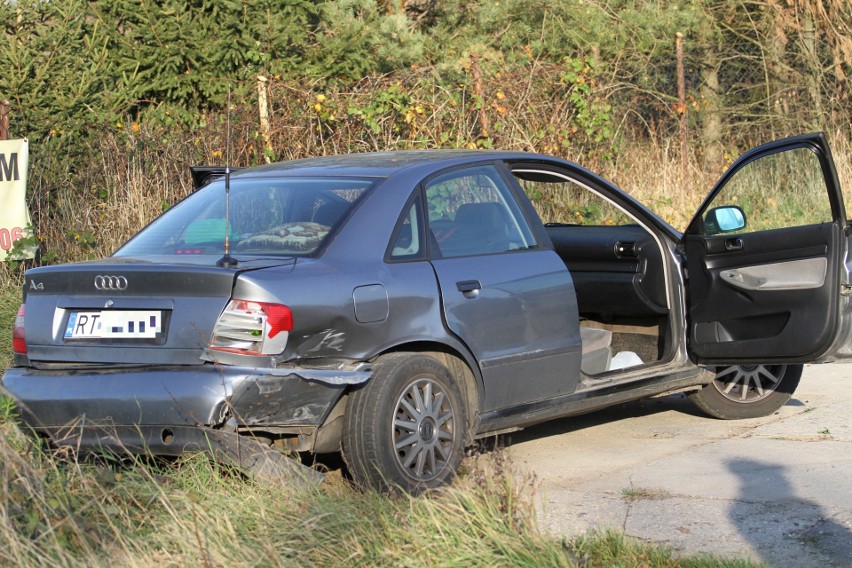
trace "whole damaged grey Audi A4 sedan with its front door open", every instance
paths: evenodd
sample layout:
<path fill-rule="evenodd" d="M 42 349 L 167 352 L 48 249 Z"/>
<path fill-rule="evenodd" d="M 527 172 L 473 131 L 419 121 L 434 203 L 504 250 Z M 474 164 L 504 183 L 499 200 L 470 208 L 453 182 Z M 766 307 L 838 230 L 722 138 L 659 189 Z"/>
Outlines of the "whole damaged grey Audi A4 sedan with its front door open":
<path fill-rule="evenodd" d="M 29 270 L 0 385 L 55 445 L 342 452 L 417 492 L 478 437 L 627 400 L 774 412 L 850 356 L 848 258 L 821 134 L 744 154 L 683 233 L 543 155 L 283 162 Z"/>

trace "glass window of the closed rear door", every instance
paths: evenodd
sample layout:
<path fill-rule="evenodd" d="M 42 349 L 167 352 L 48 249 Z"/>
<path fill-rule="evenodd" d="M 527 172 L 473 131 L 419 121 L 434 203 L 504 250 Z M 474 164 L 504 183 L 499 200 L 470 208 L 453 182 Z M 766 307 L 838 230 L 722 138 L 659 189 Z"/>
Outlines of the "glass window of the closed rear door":
<path fill-rule="evenodd" d="M 453 171 L 426 186 L 429 230 L 445 258 L 536 246 L 532 231 L 494 166 Z"/>

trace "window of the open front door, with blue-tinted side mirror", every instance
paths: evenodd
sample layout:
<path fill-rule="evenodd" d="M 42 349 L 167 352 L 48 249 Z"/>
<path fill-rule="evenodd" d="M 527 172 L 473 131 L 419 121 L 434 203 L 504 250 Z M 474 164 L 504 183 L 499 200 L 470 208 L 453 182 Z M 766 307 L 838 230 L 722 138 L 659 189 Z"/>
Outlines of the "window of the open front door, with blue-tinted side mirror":
<path fill-rule="evenodd" d="M 703 211 L 705 232 L 750 233 L 832 220 L 819 157 L 807 148 L 745 164 Z"/>

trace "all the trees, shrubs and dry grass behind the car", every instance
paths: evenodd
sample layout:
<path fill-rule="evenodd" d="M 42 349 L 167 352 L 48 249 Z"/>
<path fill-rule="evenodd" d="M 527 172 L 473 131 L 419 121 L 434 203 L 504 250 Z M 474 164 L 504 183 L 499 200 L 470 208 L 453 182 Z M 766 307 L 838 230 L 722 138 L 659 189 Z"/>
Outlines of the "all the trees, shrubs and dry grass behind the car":
<path fill-rule="evenodd" d="M 353 151 L 557 154 L 627 173 L 677 224 L 723 166 L 702 163 L 711 143 L 729 162 L 849 123 L 852 4 L 764 4 L 22 0 L 0 3 L 0 94 L 31 141 L 41 261 L 109 254 L 190 190 L 190 165 Z M 641 152 L 669 167 L 684 112 L 690 171 L 631 187 Z"/>

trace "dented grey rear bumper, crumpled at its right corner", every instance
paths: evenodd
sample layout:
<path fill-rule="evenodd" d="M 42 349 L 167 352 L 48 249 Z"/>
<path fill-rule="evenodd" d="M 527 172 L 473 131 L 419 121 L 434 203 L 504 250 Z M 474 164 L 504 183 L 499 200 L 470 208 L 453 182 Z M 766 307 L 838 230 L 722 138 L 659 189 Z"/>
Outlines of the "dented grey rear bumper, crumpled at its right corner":
<path fill-rule="evenodd" d="M 226 434 L 316 429 L 348 385 L 347 370 L 217 365 L 111 370 L 13 367 L 0 392 L 25 424 L 54 444 L 83 451 L 179 455 L 211 451 Z"/>

